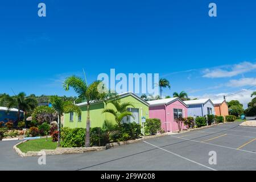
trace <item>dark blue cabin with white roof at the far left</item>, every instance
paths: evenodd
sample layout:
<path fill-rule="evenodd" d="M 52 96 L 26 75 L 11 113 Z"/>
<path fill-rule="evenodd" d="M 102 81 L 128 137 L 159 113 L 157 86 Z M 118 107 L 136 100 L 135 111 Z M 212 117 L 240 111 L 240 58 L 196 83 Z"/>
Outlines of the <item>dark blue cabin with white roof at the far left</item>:
<path fill-rule="evenodd" d="M 23 111 L 20 111 L 20 120 L 23 119 Z M 8 122 L 18 120 L 18 109 L 11 108 L 8 110 L 7 107 L 0 107 L 0 122 Z"/>

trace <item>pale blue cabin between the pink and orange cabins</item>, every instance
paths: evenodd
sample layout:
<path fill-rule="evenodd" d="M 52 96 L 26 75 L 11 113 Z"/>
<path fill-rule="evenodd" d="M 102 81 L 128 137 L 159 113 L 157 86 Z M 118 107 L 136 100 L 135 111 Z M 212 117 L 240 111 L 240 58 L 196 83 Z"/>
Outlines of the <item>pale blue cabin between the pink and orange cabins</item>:
<path fill-rule="evenodd" d="M 214 104 L 209 98 L 184 102 L 188 105 L 188 116 L 204 117 L 207 114 L 215 115 Z"/>

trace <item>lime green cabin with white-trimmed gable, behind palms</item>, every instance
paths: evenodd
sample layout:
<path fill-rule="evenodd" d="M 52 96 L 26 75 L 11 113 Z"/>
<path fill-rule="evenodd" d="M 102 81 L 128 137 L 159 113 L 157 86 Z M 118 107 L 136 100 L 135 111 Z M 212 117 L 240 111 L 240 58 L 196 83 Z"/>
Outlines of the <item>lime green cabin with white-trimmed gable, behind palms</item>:
<path fill-rule="evenodd" d="M 138 97 L 132 92 L 119 94 L 119 101 L 130 102 L 134 107 L 127 108 L 133 117 L 125 117 L 122 122 L 136 122 L 142 124 L 142 118 L 149 118 L 148 114 L 148 102 L 144 101 L 141 97 Z M 87 118 L 87 104 L 83 102 L 77 104 L 82 110 L 81 115 L 79 116 L 76 113 L 67 113 L 64 114 L 64 127 L 76 128 L 76 127 L 86 127 L 86 118 Z M 114 109 L 113 104 L 106 104 L 104 101 L 92 102 L 90 104 L 90 127 L 102 127 L 104 121 L 108 119 L 109 121 L 115 123 L 114 117 L 110 113 L 102 113 L 104 109 Z"/>

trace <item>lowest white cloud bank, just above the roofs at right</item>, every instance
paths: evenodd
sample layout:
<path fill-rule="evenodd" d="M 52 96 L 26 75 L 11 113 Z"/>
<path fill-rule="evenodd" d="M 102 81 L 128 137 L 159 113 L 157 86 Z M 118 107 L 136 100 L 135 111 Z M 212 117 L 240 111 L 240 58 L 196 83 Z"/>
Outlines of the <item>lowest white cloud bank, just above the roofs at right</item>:
<path fill-rule="evenodd" d="M 231 100 L 238 100 L 241 104 L 243 104 L 243 108 L 247 108 L 247 104 L 252 100 L 251 93 L 254 92 L 254 90 L 242 90 L 243 92 L 233 94 L 231 96 L 228 96 L 232 93 L 218 93 L 218 94 L 204 94 L 202 96 L 191 96 L 191 98 L 210 98 L 211 100 L 220 100 L 223 99 L 224 96 L 226 97 L 226 101 Z"/>

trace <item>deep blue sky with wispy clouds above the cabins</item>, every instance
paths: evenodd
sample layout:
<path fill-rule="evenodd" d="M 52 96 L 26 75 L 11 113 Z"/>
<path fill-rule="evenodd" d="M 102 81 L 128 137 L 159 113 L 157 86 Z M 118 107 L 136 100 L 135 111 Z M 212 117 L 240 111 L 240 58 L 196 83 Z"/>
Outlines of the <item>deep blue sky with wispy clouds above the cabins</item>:
<path fill-rule="evenodd" d="M 92 82 L 115 68 L 159 73 L 171 82 L 164 95 L 221 98 L 256 85 L 255 7 L 254 0 L 1 1 L 0 93 L 75 96 L 63 90 L 65 77 L 84 68 Z M 254 89 L 228 99 L 246 104 Z"/>

